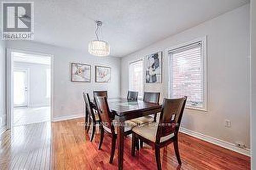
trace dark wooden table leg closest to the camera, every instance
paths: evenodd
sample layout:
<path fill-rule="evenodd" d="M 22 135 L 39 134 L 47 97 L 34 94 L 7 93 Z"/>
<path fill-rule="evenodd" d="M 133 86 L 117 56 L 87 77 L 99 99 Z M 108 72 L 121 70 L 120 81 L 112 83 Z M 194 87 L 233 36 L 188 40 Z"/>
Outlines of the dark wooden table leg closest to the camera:
<path fill-rule="evenodd" d="M 123 169 L 123 138 L 124 138 L 124 120 L 118 117 L 117 128 L 117 153 L 118 153 L 118 169 Z"/>

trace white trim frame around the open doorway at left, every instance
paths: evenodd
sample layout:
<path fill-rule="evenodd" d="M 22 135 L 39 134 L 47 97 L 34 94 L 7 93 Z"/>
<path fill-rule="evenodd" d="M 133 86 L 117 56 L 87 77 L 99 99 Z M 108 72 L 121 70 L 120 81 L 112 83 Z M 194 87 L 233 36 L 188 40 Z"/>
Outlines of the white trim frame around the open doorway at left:
<path fill-rule="evenodd" d="M 40 52 L 31 52 L 24 50 L 16 50 L 15 48 L 6 48 L 6 112 L 7 112 L 7 129 L 13 128 L 13 56 L 12 52 L 27 53 L 41 55 L 51 58 L 51 98 L 50 98 L 50 107 L 51 107 L 51 121 L 53 120 L 53 108 L 54 108 L 54 55 L 40 53 Z"/>

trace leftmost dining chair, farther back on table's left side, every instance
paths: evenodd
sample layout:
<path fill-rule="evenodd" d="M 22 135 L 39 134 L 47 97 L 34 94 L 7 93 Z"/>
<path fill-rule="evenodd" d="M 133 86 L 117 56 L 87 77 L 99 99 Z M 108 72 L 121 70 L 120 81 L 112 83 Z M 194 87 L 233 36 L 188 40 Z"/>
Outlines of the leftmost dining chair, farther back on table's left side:
<path fill-rule="evenodd" d="M 90 141 L 93 140 L 94 134 L 95 134 L 95 129 L 96 129 L 96 124 L 100 124 L 100 119 L 98 114 L 96 114 L 96 107 L 95 105 L 91 102 L 89 94 L 83 92 L 83 99 L 84 103 L 86 104 L 86 132 L 88 133 L 90 130 L 90 126 L 92 124 L 92 133 L 90 137 Z M 88 123 L 89 119 L 89 123 Z"/>

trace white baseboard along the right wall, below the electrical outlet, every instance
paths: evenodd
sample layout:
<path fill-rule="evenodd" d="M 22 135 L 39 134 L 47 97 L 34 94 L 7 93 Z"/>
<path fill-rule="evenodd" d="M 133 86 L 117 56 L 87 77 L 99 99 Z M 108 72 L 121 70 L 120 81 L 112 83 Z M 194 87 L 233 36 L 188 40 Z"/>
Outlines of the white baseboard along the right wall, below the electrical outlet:
<path fill-rule="evenodd" d="M 221 140 L 221 139 L 217 139 L 217 138 L 214 138 L 214 137 L 211 137 L 211 136 L 208 136 L 208 135 L 204 135 L 202 133 L 195 132 L 195 131 L 192 131 L 192 130 L 189 130 L 189 129 L 186 129 L 186 128 L 183 128 L 183 127 L 180 128 L 180 132 L 185 133 L 189 136 L 193 136 L 193 137 L 199 138 L 201 140 L 207 141 L 209 143 L 216 144 L 220 147 L 226 148 L 226 149 L 234 151 L 234 152 L 238 152 L 238 153 L 246 155 L 246 156 L 251 155 L 250 154 L 250 149 L 239 148 L 234 143 L 230 143 L 230 142 L 227 142 L 227 141 L 224 141 L 224 140 Z"/>

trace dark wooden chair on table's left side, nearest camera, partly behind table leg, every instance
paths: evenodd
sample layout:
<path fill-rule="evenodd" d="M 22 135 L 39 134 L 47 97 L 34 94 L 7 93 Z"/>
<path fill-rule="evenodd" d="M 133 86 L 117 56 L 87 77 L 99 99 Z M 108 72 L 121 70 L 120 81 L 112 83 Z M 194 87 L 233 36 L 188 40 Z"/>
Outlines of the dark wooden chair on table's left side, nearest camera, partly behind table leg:
<path fill-rule="evenodd" d="M 110 111 L 108 101 L 106 96 L 95 96 L 96 107 L 98 109 L 99 118 L 100 118 L 100 141 L 98 149 L 101 149 L 101 145 L 104 138 L 104 132 L 111 134 L 112 143 L 111 143 L 111 154 L 110 154 L 110 163 L 113 163 L 114 154 L 115 154 L 115 146 L 116 146 L 116 138 L 117 138 L 117 122 L 114 119 L 114 114 Z M 124 133 L 131 134 L 132 128 L 136 126 L 136 124 L 132 122 L 125 122 L 124 125 Z M 138 141 L 135 143 L 138 149 Z"/>

